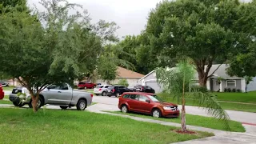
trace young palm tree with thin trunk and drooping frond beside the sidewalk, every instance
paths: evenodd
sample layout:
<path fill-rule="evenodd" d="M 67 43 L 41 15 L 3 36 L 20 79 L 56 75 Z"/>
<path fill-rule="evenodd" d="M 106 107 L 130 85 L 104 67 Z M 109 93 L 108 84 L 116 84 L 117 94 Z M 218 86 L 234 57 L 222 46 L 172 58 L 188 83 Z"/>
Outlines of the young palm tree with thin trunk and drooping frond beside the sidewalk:
<path fill-rule="evenodd" d="M 204 109 L 207 110 L 209 114 L 212 114 L 214 118 L 221 119 L 226 130 L 230 130 L 230 118 L 226 114 L 226 111 L 222 109 L 222 106 L 219 105 L 213 94 L 199 90 L 193 90 L 190 93 L 186 92 L 186 86 L 190 86 L 195 74 L 194 66 L 190 63 L 190 59 L 183 58 L 178 62 L 176 67 L 171 68 L 170 70 L 165 68 L 158 68 L 156 70 L 157 80 L 162 84 L 163 89 L 166 90 L 168 94 L 173 95 L 174 98 L 177 98 L 178 102 L 182 100 L 182 132 L 187 132 L 185 109 L 186 97 L 193 98 L 194 102 L 198 103 L 198 106 L 204 107 Z"/>

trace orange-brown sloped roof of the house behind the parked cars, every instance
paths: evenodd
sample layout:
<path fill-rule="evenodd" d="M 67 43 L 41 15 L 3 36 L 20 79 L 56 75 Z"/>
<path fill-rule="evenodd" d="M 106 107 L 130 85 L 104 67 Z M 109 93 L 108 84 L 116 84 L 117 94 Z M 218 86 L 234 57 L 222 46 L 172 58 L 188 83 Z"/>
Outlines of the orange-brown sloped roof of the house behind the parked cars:
<path fill-rule="evenodd" d="M 118 66 L 117 78 L 142 78 L 142 77 L 144 77 L 143 74 L 139 74 L 132 70 L 127 70 L 123 67 Z"/>

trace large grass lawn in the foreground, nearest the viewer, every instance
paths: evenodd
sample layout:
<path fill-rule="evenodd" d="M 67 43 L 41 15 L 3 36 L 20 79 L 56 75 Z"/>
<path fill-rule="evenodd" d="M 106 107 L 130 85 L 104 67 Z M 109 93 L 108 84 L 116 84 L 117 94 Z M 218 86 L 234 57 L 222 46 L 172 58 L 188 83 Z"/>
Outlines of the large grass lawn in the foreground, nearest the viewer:
<path fill-rule="evenodd" d="M 213 134 L 177 134 L 178 128 L 74 110 L 0 109 L 1 143 L 170 143 Z"/>

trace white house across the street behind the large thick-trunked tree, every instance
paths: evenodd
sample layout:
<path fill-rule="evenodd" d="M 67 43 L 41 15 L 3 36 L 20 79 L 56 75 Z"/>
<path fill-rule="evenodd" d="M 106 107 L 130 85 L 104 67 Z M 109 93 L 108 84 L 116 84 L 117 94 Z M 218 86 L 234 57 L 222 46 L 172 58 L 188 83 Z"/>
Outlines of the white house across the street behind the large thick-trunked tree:
<path fill-rule="evenodd" d="M 228 68 L 228 65 L 222 64 L 219 65 L 213 65 L 210 68 L 210 74 L 213 74 L 210 78 L 208 78 L 206 82 L 206 87 L 208 90 L 211 91 L 218 91 L 220 90 L 223 92 L 225 89 L 235 89 L 235 90 L 242 90 L 242 92 L 245 92 L 246 90 L 246 81 L 244 78 L 238 78 L 238 77 L 231 77 L 229 74 L 226 74 L 226 68 Z M 218 68 L 218 70 L 216 70 Z M 214 70 L 216 70 L 214 72 Z M 221 77 L 222 81 L 220 84 L 218 84 L 217 78 Z M 198 83 L 198 73 L 194 75 L 194 82 Z M 151 86 L 154 88 L 154 90 L 157 93 L 162 92 L 162 86 L 157 82 L 156 79 L 156 73 L 155 70 L 151 71 L 149 74 L 146 74 L 143 78 L 141 78 L 138 82 L 139 84 L 142 84 L 144 86 Z M 250 82 L 250 84 L 247 86 L 248 91 L 256 90 L 256 78 L 254 78 L 254 81 Z"/>

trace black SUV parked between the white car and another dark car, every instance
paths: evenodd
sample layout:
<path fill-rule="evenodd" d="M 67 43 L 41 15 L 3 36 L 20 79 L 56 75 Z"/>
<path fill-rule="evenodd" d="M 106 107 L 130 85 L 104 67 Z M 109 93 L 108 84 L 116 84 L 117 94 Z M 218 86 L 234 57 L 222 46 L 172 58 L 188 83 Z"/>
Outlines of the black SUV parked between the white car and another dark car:
<path fill-rule="evenodd" d="M 133 90 L 128 89 L 126 86 L 109 86 L 107 89 L 107 93 L 106 95 L 111 97 L 111 96 L 115 96 L 115 97 L 119 97 L 121 94 L 125 93 L 125 92 L 131 92 Z"/>

